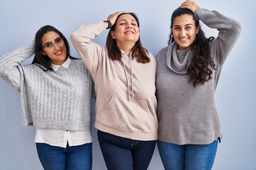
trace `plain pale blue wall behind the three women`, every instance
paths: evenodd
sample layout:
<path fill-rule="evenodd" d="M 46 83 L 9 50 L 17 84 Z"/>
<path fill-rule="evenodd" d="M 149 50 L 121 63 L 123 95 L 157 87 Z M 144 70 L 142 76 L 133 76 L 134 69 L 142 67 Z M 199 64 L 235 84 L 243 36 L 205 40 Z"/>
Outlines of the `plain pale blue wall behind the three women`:
<path fill-rule="evenodd" d="M 28 45 L 36 31 L 46 24 L 55 26 L 65 37 L 86 23 L 105 20 L 115 11 L 137 13 L 141 23 L 142 45 L 156 53 L 167 45 L 171 13 L 183 1 L 85 1 L 0 0 L 0 56 Z M 226 60 L 215 94 L 223 132 L 213 169 L 256 169 L 256 75 L 255 21 L 256 1 L 200 0 L 202 8 L 220 11 L 242 23 L 242 33 Z M 202 25 L 207 36 L 217 31 Z M 107 31 L 95 41 L 105 45 Z M 69 41 L 70 42 L 70 41 Z M 71 45 L 71 54 L 79 57 Z M 31 59 L 25 63 L 30 63 Z M 20 98 L 17 91 L 0 79 L 0 169 L 43 169 L 33 142 L 35 129 L 21 125 Z M 94 115 L 94 112 L 93 112 Z M 94 121 L 94 118 L 93 118 Z M 93 169 L 106 169 L 95 128 L 93 132 Z M 161 170 L 157 148 L 149 170 Z"/>

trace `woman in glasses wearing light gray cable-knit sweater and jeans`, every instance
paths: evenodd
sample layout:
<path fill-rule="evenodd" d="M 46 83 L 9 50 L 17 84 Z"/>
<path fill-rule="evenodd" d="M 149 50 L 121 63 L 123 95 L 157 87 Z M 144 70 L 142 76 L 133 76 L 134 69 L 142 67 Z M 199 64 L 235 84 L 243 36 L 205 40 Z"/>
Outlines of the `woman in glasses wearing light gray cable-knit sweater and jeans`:
<path fill-rule="evenodd" d="M 43 26 L 31 45 L 0 58 L 0 77 L 21 94 L 22 123 L 36 127 L 43 169 L 92 169 L 92 79 L 63 33 Z"/>

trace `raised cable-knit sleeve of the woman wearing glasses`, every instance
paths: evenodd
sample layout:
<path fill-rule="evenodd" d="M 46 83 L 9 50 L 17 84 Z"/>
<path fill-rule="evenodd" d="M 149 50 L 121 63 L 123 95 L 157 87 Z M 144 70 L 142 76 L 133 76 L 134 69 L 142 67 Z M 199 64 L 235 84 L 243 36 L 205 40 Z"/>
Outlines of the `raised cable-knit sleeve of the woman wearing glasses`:
<path fill-rule="evenodd" d="M 18 47 L 13 52 L 8 52 L 0 58 L 0 77 L 10 84 L 14 89 L 20 91 L 23 79 L 21 62 L 32 57 L 35 53 L 35 41 L 30 45 Z"/>

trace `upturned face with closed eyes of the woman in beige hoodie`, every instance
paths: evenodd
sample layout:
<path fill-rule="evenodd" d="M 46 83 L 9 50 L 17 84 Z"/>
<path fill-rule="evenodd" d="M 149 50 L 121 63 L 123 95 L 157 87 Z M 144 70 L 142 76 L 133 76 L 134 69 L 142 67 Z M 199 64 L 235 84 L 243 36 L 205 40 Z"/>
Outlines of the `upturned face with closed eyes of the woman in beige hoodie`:
<path fill-rule="evenodd" d="M 136 19 L 130 14 L 122 14 L 117 18 L 115 28 L 111 32 L 112 38 L 117 40 L 117 47 L 123 42 L 135 44 L 139 40 L 139 27 Z"/>

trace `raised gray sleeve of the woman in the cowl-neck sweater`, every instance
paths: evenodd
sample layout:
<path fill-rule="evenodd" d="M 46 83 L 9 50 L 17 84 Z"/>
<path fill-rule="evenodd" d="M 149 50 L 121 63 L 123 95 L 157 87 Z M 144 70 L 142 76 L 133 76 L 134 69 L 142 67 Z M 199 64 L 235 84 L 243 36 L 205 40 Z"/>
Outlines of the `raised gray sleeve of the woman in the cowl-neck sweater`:
<path fill-rule="evenodd" d="M 238 40 L 242 26 L 238 21 L 218 11 L 198 8 L 194 15 L 196 20 L 201 20 L 209 28 L 218 30 L 218 37 L 210 44 L 210 53 L 219 64 L 223 64 Z"/>

